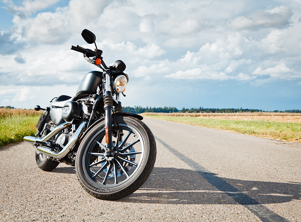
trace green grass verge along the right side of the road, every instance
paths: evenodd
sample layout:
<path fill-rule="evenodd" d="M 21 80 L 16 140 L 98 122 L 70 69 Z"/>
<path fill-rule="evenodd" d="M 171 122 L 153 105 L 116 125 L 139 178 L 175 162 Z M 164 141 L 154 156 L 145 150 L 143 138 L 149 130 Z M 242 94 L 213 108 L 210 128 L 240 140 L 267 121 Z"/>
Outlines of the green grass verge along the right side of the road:
<path fill-rule="evenodd" d="M 261 120 L 222 120 L 189 116 L 146 116 L 188 125 L 233 131 L 258 137 L 267 137 L 292 142 L 301 142 L 301 124 Z"/>

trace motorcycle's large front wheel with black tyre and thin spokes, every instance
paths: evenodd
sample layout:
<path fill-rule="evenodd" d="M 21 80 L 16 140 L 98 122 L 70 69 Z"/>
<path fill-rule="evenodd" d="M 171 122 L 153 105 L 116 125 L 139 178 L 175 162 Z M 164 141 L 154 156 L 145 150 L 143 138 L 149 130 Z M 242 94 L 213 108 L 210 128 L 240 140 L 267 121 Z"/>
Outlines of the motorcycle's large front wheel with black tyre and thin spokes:
<path fill-rule="evenodd" d="M 150 176 L 156 161 L 156 142 L 143 122 L 125 116 L 116 117 L 116 128 L 112 129 L 115 155 L 111 158 L 104 156 L 105 136 L 101 122 L 82 140 L 76 154 L 76 175 L 92 196 L 120 199 L 135 192 Z"/>

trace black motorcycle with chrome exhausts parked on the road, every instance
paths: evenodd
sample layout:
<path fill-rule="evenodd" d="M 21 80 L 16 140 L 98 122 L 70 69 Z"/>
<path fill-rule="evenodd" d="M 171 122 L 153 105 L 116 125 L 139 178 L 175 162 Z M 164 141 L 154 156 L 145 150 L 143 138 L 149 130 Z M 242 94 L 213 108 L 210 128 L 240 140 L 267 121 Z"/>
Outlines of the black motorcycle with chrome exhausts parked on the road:
<path fill-rule="evenodd" d="M 104 200 L 120 199 L 138 190 L 150 176 L 156 160 L 156 142 L 142 116 L 123 112 L 120 102 L 129 77 L 117 60 L 107 66 L 96 36 L 87 29 L 82 37 L 96 49 L 71 46 L 101 71 L 87 73 L 74 97 L 50 101 L 36 125 L 35 137 L 25 142 L 36 147 L 36 163 L 44 171 L 60 163 L 75 166 L 80 185 Z"/>

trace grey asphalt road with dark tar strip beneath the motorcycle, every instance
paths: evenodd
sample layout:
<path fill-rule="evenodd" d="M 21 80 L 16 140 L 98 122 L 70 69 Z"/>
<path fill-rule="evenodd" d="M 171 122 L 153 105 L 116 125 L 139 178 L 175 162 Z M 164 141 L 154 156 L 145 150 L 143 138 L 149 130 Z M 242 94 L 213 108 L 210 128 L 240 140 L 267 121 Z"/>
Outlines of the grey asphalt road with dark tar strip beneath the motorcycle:
<path fill-rule="evenodd" d="M 28 143 L 0 149 L 0 221 L 301 221 L 301 143 L 144 119 L 157 143 L 147 182 L 103 201 L 74 167 L 36 166 Z"/>

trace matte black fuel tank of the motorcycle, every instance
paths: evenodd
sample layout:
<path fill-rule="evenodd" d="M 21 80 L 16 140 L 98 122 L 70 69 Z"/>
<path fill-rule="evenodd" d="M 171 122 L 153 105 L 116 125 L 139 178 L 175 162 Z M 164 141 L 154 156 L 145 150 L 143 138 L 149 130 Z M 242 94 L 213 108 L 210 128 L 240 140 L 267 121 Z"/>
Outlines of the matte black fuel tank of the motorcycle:
<path fill-rule="evenodd" d="M 80 99 L 90 94 L 95 94 L 98 85 L 102 84 L 103 73 L 92 71 L 85 75 L 76 91 L 76 98 Z"/>

